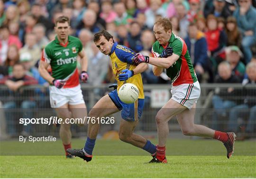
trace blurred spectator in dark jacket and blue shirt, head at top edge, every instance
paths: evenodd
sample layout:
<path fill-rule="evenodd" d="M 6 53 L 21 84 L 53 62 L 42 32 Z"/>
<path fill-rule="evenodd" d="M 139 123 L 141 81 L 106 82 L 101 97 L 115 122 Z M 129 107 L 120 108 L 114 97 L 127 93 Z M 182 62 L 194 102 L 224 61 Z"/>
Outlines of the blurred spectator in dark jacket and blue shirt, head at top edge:
<path fill-rule="evenodd" d="M 210 14 L 213 14 L 216 18 L 222 17 L 224 19 L 232 15 L 225 0 L 213 0 L 213 6 L 209 10 L 204 10 L 204 17 L 206 18 Z"/>

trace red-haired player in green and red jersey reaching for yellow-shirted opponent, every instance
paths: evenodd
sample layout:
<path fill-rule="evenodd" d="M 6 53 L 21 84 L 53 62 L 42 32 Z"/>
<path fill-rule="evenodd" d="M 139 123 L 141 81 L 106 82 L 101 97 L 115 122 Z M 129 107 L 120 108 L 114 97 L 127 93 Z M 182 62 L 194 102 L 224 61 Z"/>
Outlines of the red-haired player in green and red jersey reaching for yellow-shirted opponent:
<path fill-rule="evenodd" d="M 184 135 L 211 137 L 223 142 L 229 158 L 234 150 L 236 136 L 234 133 L 214 131 L 206 126 L 194 124 L 195 107 L 201 89 L 190 60 L 187 45 L 182 38 L 172 33 L 172 24 L 167 18 L 160 18 L 156 21 L 153 31 L 157 39 L 152 47 L 154 57 L 137 54 L 133 62 L 135 64 L 150 63 L 155 65 L 153 72 L 156 76 L 159 76 L 165 68 L 166 74 L 172 80 L 173 87 L 171 90 L 172 98 L 158 111 L 155 117 L 158 145 L 155 158 L 150 162 L 167 163 L 165 143 L 169 133 L 168 121 L 173 116 L 177 116 Z"/>

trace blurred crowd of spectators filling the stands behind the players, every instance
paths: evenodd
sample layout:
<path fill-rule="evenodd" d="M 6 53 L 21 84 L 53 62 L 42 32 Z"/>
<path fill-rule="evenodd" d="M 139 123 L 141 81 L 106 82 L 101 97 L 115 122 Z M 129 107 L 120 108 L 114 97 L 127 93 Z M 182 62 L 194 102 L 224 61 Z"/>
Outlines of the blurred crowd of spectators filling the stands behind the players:
<path fill-rule="evenodd" d="M 115 82 L 109 57 L 93 43 L 94 33 L 106 29 L 120 45 L 151 55 L 153 26 L 161 17 L 169 18 L 173 33 L 185 40 L 200 82 L 256 82 L 256 0 L 0 0 L 0 84 L 12 91 L 48 85 L 37 67 L 42 50 L 55 38 L 55 19 L 62 15 L 71 19 L 70 35 L 82 41 L 89 84 Z M 143 72 L 145 84 L 170 83 L 165 73 L 156 77 L 151 69 Z M 232 107 L 235 112 L 248 108 L 256 116 L 256 101 L 250 101 L 256 94 L 245 93 L 250 102 L 229 100 L 235 93 L 231 88 L 215 93 L 213 107 L 222 110 L 215 110 L 213 121 Z M 230 123 L 237 118 L 230 117 Z"/>

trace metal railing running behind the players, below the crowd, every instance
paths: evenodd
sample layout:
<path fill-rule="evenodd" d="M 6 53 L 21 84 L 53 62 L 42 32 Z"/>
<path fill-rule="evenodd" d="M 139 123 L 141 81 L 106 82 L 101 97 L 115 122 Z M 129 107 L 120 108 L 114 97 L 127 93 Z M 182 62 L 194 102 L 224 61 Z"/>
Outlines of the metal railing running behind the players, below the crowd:
<path fill-rule="evenodd" d="M 229 113 L 230 108 L 227 108 L 225 115 L 217 114 L 217 121 L 213 121 L 213 115 L 220 109 L 214 109 L 212 107 L 212 98 L 216 95 L 216 91 L 227 90 L 233 88 L 236 92 L 229 98 L 225 97 L 225 100 L 236 101 L 236 105 L 243 104 L 244 90 L 256 90 L 255 85 L 247 85 L 246 87 L 241 84 L 200 84 L 201 85 L 201 97 L 197 101 L 197 109 L 194 117 L 196 124 L 207 125 L 211 128 L 227 131 L 229 129 Z M 105 94 L 108 94 L 112 89 L 108 89 L 109 84 L 102 84 L 100 86 L 91 86 L 88 84 L 82 84 L 83 97 L 86 102 L 88 111 L 93 105 Z M 137 130 L 141 132 L 156 133 L 155 115 L 161 108 L 161 104 L 171 98 L 170 84 L 148 84 L 144 85 L 145 92 L 145 105 L 143 115 L 137 126 Z M 252 97 L 256 100 L 256 96 Z M 43 86 L 27 86 L 22 87 L 19 92 L 13 93 L 5 85 L 0 85 L 0 101 L 2 103 L 1 108 L 1 124 L 5 124 L 6 132 L 10 133 L 10 130 L 14 130 L 14 134 L 18 135 L 21 131 L 24 131 L 24 125 L 18 124 L 18 119 L 21 116 L 33 116 L 33 117 L 50 117 L 56 116 L 55 110 L 50 107 L 49 102 L 49 90 L 48 87 Z M 24 104 L 24 101 L 32 101 L 33 104 Z M 12 104 L 11 104 L 12 103 Z M 15 104 L 15 105 L 14 105 Z M 158 104 L 155 106 L 155 104 Z M 9 105 L 9 106 L 8 106 Z M 26 106 L 27 105 L 27 106 Z M 234 106 L 233 106 L 234 107 Z M 240 109 L 242 110 L 242 109 Z M 244 115 L 239 116 L 236 123 L 240 130 L 246 128 L 248 117 L 250 114 L 250 107 L 244 109 Z M 246 112 L 247 111 L 247 112 Z M 120 114 L 115 114 L 115 124 L 102 125 L 100 133 L 103 134 L 108 130 L 118 130 Z M 175 118 L 175 117 L 174 117 Z M 10 122 L 11 121 L 11 122 Z M 256 118 L 253 125 L 255 125 Z M 216 124 L 213 124 L 216 123 Z M 12 125 L 12 127 L 10 127 Z M 2 125 L 3 126 L 3 125 Z M 1 126 L 1 127 L 2 127 Z M 169 122 L 171 131 L 180 130 L 177 120 L 170 120 Z M 58 135 L 58 129 L 52 125 L 31 125 L 30 132 L 34 135 L 52 133 Z M 84 135 L 87 131 L 87 126 L 79 127 L 77 125 L 72 126 L 73 136 Z M 252 136 L 255 136 L 255 128 L 253 129 Z"/>

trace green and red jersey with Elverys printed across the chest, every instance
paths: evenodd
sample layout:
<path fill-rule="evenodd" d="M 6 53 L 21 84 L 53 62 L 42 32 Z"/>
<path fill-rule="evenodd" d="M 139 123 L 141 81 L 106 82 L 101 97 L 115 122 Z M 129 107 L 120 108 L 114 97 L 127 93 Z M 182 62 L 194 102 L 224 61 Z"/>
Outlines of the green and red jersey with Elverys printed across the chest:
<path fill-rule="evenodd" d="M 66 44 L 61 44 L 57 38 L 46 45 L 41 60 L 50 63 L 52 77 L 66 81 L 64 88 L 79 85 L 79 74 L 76 68 L 77 55 L 82 50 L 79 38 L 68 36 Z"/>

